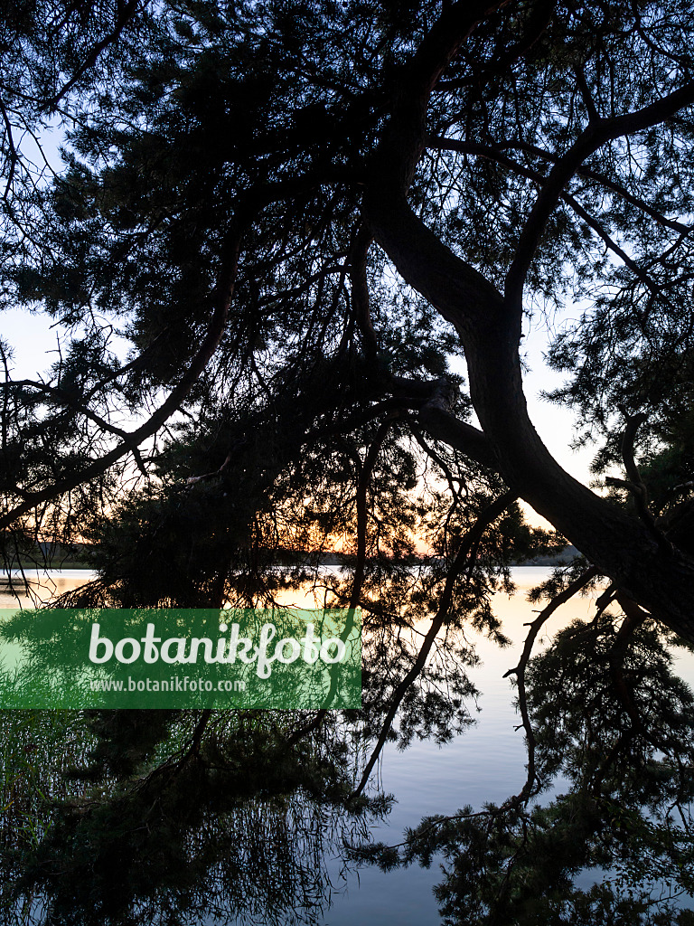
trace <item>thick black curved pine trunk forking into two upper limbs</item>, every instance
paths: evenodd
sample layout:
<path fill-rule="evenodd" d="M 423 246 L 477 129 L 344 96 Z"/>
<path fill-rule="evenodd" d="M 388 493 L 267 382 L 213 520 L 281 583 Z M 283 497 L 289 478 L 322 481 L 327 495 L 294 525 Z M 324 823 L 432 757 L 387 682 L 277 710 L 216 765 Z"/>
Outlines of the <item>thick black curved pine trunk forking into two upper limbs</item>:
<path fill-rule="evenodd" d="M 465 19 L 464 31 L 464 18 L 453 28 L 450 16 L 444 15 L 431 31 L 436 36 L 434 44 L 444 41 L 441 28 L 445 25 L 449 53 L 453 54 L 472 29 L 472 19 L 471 14 Z M 670 554 L 663 550 L 646 525 L 590 492 L 551 457 L 527 414 L 519 357 L 523 282 L 544 224 L 564 192 L 565 183 L 601 144 L 658 124 L 688 106 L 694 101 L 694 83 L 637 112 L 602 119 L 579 136 L 551 169 L 539 193 L 521 234 L 504 299 L 476 269 L 440 242 L 415 216 L 406 198 L 426 138 L 429 88 L 446 60 L 446 54 L 439 49 L 438 56 L 429 62 L 428 74 L 422 72 L 420 60 L 420 66 L 403 77 L 403 94 L 410 94 L 410 104 L 401 98 L 393 106 L 366 190 L 365 211 L 374 235 L 403 279 L 461 335 L 472 401 L 505 482 L 576 544 L 601 572 L 658 614 L 675 632 L 694 640 L 694 562 L 677 551 Z M 651 561 L 647 571 L 642 569 L 644 558 Z"/>

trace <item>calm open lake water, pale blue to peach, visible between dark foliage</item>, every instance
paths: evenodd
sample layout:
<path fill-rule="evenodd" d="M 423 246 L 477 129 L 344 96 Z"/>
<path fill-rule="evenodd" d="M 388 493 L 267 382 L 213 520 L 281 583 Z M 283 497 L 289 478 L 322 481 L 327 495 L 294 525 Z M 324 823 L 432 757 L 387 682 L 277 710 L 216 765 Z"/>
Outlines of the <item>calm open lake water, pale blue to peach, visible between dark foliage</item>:
<path fill-rule="evenodd" d="M 525 781 L 523 733 L 515 731 L 519 723 L 514 710 L 514 689 L 503 674 L 516 665 L 525 637 L 524 624 L 536 616 L 527 602 L 527 592 L 546 579 L 544 567 L 516 567 L 512 570 L 516 593 L 509 597 L 497 594 L 494 609 L 502 619 L 503 632 L 513 644 L 500 649 L 480 635 L 472 638 L 482 664 L 470 669 L 470 677 L 480 690 L 480 708 L 476 725 L 452 743 L 439 747 L 415 742 L 404 752 L 386 745 L 378 768 L 378 782 L 396 802 L 386 823 L 373 831 L 378 841 L 402 842 L 403 830 L 415 826 L 428 814 L 452 814 L 466 804 L 478 808 L 488 801 L 501 802 L 516 794 Z M 46 575 L 27 571 L 31 590 L 43 600 L 76 588 L 93 575 L 87 569 L 52 571 Z M 31 607 L 31 600 L 22 600 Z M 311 607 L 306 599 L 297 604 Z M 16 599 L 7 594 L 6 583 L 0 585 L 0 607 L 17 607 Z M 546 635 L 561 629 L 570 620 L 587 619 L 594 612 L 592 598 L 576 598 L 560 608 L 546 625 Z M 538 644 L 541 645 L 542 639 Z M 694 655 L 677 658 L 677 670 L 689 684 L 694 683 Z M 436 863 L 430 870 L 414 866 L 407 870 L 383 874 L 362 869 L 341 877 L 341 860 L 334 858 L 329 870 L 336 893 L 332 906 L 320 920 L 324 926 L 366 926 L 400 923 L 403 926 L 438 926 L 440 917 L 432 887 L 440 881 Z M 589 879 L 590 881 L 590 879 Z M 588 882 L 589 882 L 588 881 Z"/>

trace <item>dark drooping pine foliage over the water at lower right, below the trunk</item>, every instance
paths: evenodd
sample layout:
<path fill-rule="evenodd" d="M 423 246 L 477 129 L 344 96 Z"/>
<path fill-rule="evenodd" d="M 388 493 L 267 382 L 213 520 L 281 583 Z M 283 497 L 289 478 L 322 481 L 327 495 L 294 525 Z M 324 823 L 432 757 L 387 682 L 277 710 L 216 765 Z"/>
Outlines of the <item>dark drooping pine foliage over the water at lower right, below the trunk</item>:
<path fill-rule="evenodd" d="M 624 596 L 624 615 L 606 611 L 614 597 L 517 669 L 528 747 L 518 795 L 422 820 L 402 845 L 353 857 L 389 870 L 442 854 L 435 894 L 451 924 L 694 923 L 682 908 L 694 895 L 694 695 L 671 670 L 673 638 Z M 557 777 L 563 793 L 539 803 Z"/>

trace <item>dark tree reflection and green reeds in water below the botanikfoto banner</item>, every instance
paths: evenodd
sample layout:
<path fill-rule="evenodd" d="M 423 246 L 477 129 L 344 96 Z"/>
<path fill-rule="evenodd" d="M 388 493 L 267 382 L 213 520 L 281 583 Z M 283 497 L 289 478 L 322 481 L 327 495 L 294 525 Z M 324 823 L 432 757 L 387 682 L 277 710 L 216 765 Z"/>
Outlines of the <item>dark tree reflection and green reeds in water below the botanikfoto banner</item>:
<path fill-rule="evenodd" d="M 334 725 L 297 746 L 269 713 L 6 713 L 6 922 L 310 921 L 327 853 L 386 807 L 345 811 Z"/>

